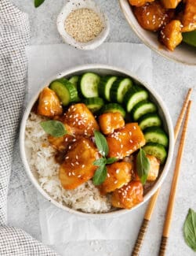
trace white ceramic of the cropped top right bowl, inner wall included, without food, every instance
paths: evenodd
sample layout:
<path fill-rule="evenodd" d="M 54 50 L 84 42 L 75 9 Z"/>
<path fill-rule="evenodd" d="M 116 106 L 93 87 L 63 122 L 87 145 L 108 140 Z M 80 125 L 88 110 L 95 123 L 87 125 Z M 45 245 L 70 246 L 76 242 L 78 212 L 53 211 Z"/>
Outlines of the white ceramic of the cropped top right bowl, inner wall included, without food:
<path fill-rule="evenodd" d="M 119 0 L 119 3 L 132 30 L 136 32 L 136 35 L 138 35 L 143 43 L 151 48 L 151 50 L 154 50 L 158 54 L 173 61 L 181 62 L 186 65 L 196 65 L 195 47 L 188 46 L 186 43 L 181 43 L 174 51 L 167 50 L 165 46 L 162 46 L 162 44 L 158 42 L 157 33 L 149 32 L 140 26 L 132 12 L 128 0 Z"/>

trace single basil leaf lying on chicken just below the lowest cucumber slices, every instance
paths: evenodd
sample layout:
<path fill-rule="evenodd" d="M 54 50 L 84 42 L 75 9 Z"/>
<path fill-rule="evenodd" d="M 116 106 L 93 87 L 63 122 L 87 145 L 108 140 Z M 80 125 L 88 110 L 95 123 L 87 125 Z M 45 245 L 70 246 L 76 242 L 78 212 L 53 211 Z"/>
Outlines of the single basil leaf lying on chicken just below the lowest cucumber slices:
<path fill-rule="evenodd" d="M 136 170 L 140 176 L 141 183 L 145 184 L 150 170 L 150 161 L 147 158 L 145 151 L 141 148 L 136 157 Z"/>

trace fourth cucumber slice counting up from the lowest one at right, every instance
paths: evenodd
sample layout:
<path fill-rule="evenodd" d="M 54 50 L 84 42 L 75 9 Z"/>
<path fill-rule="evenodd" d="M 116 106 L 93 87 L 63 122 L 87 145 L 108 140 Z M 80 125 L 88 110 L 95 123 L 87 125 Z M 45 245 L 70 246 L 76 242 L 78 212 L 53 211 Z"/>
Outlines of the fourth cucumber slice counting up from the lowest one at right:
<path fill-rule="evenodd" d="M 154 113 L 157 111 L 157 107 L 152 102 L 148 102 L 147 100 L 138 102 L 136 106 L 132 108 L 132 118 L 134 121 L 137 121 L 140 117 L 142 117 L 145 113 Z"/>

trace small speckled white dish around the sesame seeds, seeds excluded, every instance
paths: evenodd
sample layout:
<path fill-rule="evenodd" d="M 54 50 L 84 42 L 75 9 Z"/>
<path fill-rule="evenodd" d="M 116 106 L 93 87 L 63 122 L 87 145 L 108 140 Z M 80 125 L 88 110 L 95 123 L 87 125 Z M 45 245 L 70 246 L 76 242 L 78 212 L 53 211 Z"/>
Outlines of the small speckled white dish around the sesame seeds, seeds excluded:
<path fill-rule="evenodd" d="M 100 20 L 103 22 L 103 30 L 99 35 L 96 36 L 95 39 L 90 40 L 87 43 L 80 43 L 76 41 L 71 35 L 69 35 L 65 28 L 64 23 L 67 16 L 74 11 L 75 9 L 92 9 L 95 13 L 98 14 Z M 101 43 L 107 38 L 107 35 L 110 30 L 110 24 L 107 18 L 107 15 L 103 13 L 99 6 L 96 5 L 92 0 L 71 0 L 67 2 L 63 9 L 61 9 L 59 16 L 57 17 L 57 28 L 64 39 L 64 42 L 68 43 L 71 46 L 74 46 L 81 50 L 93 50 L 96 47 L 100 46 Z"/>

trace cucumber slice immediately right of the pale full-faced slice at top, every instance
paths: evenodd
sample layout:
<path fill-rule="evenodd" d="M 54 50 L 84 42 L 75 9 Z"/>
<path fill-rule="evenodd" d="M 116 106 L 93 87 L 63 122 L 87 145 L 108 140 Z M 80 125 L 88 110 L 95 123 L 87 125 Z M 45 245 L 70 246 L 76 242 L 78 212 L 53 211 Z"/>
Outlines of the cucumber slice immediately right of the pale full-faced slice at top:
<path fill-rule="evenodd" d="M 111 101 L 110 91 L 115 80 L 117 80 L 117 76 L 103 76 L 100 79 L 100 84 L 98 87 L 99 95 L 107 99 L 108 102 Z"/>

